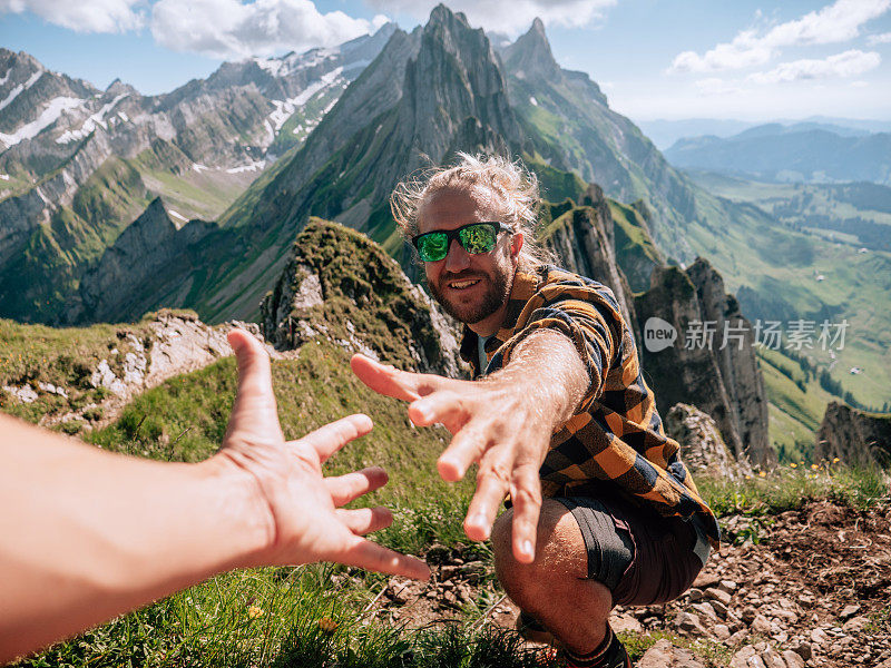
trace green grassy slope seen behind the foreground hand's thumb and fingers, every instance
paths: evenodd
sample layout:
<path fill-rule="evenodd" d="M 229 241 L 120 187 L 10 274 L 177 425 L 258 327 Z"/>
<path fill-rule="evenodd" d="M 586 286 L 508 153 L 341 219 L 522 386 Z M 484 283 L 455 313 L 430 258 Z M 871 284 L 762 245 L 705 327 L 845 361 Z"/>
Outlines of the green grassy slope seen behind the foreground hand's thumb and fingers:
<path fill-rule="evenodd" d="M 388 360 L 395 362 L 395 360 Z M 350 353 L 327 342 L 306 344 L 297 358 L 273 361 L 273 385 L 286 439 L 352 413 L 375 423 L 366 438 L 345 448 L 327 464 L 344 473 L 373 464 L 391 475 L 378 498 L 405 503 L 431 494 L 461 494 L 466 484 L 449 485 L 432 474 L 448 443 L 443 429 L 410 426 L 405 404 L 380 396 L 350 371 Z M 172 379 L 136 397 L 108 428 L 87 434 L 89 442 L 160 460 L 194 462 L 219 448 L 235 399 L 234 357 Z M 472 477 L 471 477 L 472 480 Z"/>

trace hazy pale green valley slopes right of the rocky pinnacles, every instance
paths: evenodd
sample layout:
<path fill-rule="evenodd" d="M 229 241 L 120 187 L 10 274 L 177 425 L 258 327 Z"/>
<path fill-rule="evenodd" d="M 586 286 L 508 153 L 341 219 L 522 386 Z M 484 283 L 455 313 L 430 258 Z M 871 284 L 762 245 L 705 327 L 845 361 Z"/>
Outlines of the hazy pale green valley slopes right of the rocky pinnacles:
<path fill-rule="evenodd" d="M 754 205 L 704 190 L 697 208 L 702 215 L 686 227 L 686 240 L 721 272 L 750 320 L 780 321 L 784 332 L 791 321 L 814 322 L 813 347 L 801 352 L 824 369 L 833 360 L 817 341 L 820 325 L 848 321 L 832 377 L 863 405 L 891 400 L 891 254 L 862 254 L 790 229 Z M 852 367 L 862 373 L 851 374 Z"/>

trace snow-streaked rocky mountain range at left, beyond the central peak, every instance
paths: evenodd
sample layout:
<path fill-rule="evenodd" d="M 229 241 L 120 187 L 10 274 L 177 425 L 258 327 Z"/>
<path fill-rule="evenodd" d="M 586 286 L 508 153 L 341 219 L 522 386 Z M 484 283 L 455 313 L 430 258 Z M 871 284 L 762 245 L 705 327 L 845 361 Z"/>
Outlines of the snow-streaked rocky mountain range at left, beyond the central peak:
<path fill-rule="evenodd" d="M 177 226 L 222 214 L 304 141 L 394 30 L 226 62 L 151 97 L 117 80 L 98 90 L 0 49 L 2 312 L 57 320 L 84 272 L 155 197 Z"/>

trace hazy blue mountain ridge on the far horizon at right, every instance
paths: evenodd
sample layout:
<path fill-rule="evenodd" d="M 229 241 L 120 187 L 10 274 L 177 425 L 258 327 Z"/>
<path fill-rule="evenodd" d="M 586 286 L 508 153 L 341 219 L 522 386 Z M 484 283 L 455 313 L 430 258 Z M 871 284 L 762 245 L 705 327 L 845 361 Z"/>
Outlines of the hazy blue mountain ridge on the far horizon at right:
<path fill-rule="evenodd" d="M 891 185 L 891 132 L 830 124 L 768 124 L 726 138 L 688 137 L 665 157 L 676 167 L 763 180 Z"/>

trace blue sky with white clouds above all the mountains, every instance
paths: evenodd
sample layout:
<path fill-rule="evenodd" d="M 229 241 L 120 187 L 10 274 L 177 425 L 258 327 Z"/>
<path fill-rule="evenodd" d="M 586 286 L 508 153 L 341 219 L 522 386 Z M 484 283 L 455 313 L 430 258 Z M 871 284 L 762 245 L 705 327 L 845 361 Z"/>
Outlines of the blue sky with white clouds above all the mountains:
<path fill-rule="evenodd" d="M 225 59 L 332 46 L 427 0 L 0 0 L 0 46 L 144 94 Z M 516 37 L 545 20 L 562 67 L 588 72 L 635 120 L 814 115 L 891 119 L 891 0 L 454 0 Z"/>

